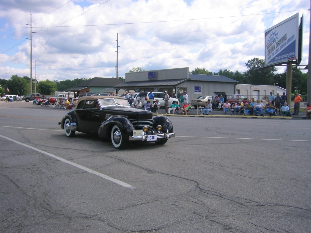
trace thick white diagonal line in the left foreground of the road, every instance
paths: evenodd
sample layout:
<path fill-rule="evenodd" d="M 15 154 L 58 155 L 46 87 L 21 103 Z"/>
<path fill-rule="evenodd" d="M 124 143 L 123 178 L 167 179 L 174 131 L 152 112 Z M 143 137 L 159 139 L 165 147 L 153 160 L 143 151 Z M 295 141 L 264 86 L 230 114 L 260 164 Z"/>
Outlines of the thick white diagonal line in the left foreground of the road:
<path fill-rule="evenodd" d="M 28 147 L 28 148 L 30 148 L 30 149 L 33 149 L 33 150 L 35 150 L 35 151 L 38 151 L 39 153 L 42 153 L 42 154 L 48 155 L 48 156 L 50 156 L 50 157 L 53 157 L 53 158 L 55 158 L 55 159 L 57 159 L 57 160 L 59 160 L 59 161 L 61 161 L 61 162 L 68 163 L 68 164 L 70 164 L 70 165 L 72 165 L 72 166 L 74 166 L 74 167 L 78 167 L 78 168 L 80 168 L 80 169 L 82 169 L 82 170 L 84 170 L 84 171 L 87 171 L 87 172 L 92 173 L 92 174 L 94 174 L 94 175 L 100 176 L 100 177 L 102 177 L 102 178 L 104 178 L 104 179 L 106 179 L 106 180 L 110 180 L 110 181 L 112 181 L 112 182 L 114 182 L 114 183 L 116 183 L 116 184 L 118 184 L 118 185 L 123 186 L 123 187 L 129 188 L 129 189 L 135 189 L 135 188 L 136 188 L 136 187 L 134 187 L 134 186 L 132 186 L 132 185 L 129 185 L 129 184 L 127 184 L 127 183 L 121 181 L 121 180 L 117 180 L 117 179 L 114 179 L 114 178 L 112 178 L 112 177 L 110 177 L 110 176 L 106 176 L 106 175 L 104 175 L 104 174 L 102 174 L 102 173 L 99 173 L 99 172 L 94 171 L 94 170 L 92 170 L 92 169 L 90 169 L 90 168 L 84 167 L 84 166 L 82 166 L 82 165 L 80 165 L 80 164 L 77 164 L 77 163 L 68 161 L 68 160 L 66 160 L 66 159 L 63 159 L 63 158 L 61 158 L 61 157 L 58 157 L 58 156 L 56 156 L 56 155 L 54 155 L 54 154 L 51 154 L 51 153 L 49 153 L 49 152 L 45 152 L 45 151 L 43 151 L 43 150 L 39 150 L 39 149 L 37 149 L 37 148 L 35 148 L 35 147 L 26 145 L 26 144 L 24 144 L 24 143 L 21 143 L 21 142 L 19 142 L 19 141 L 16 141 L 16 140 L 14 140 L 14 139 L 8 138 L 8 137 L 3 136 L 3 135 L 0 135 L 0 137 L 2 137 L 2 138 L 4 138 L 4 139 L 7 139 L 7 140 L 9 140 L 9 141 L 12 141 L 12 142 L 14 142 L 14 143 L 16 143 L 16 144 L 19 144 L 19 145 Z"/>

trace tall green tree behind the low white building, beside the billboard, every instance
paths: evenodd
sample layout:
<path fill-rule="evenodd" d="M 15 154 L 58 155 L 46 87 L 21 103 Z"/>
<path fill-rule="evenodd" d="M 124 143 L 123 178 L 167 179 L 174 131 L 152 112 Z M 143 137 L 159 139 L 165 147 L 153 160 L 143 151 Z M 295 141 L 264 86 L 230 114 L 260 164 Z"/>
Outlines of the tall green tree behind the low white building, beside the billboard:
<path fill-rule="evenodd" d="M 248 71 L 244 72 L 246 84 L 273 85 L 273 77 L 277 69 L 275 67 L 256 69 L 264 66 L 264 64 L 264 59 L 259 59 L 258 57 L 254 57 L 245 63 L 245 66 L 248 68 Z"/>

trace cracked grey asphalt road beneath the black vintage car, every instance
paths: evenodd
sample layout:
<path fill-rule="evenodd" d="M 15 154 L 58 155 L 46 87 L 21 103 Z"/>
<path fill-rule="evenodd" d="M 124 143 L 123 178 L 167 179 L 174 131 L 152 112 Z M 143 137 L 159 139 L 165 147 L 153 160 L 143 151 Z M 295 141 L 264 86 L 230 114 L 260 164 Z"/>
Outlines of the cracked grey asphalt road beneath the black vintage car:
<path fill-rule="evenodd" d="M 65 112 L 0 102 L 0 232 L 311 232 L 308 119 L 169 117 L 117 150 Z"/>

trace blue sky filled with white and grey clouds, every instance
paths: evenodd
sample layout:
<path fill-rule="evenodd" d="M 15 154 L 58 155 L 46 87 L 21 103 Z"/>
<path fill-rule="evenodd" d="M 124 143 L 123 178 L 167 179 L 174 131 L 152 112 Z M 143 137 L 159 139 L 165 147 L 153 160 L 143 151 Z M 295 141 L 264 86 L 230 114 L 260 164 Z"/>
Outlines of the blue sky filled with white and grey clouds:
<path fill-rule="evenodd" d="M 296 13 L 304 16 L 307 64 L 309 7 L 308 0 L 1 0 L 0 78 L 30 77 L 30 14 L 36 77 L 61 81 L 116 77 L 117 34 L 120 77 L 137 66 L 244 72 L 248 60 L 264 59 L 264 31 Z"/>

